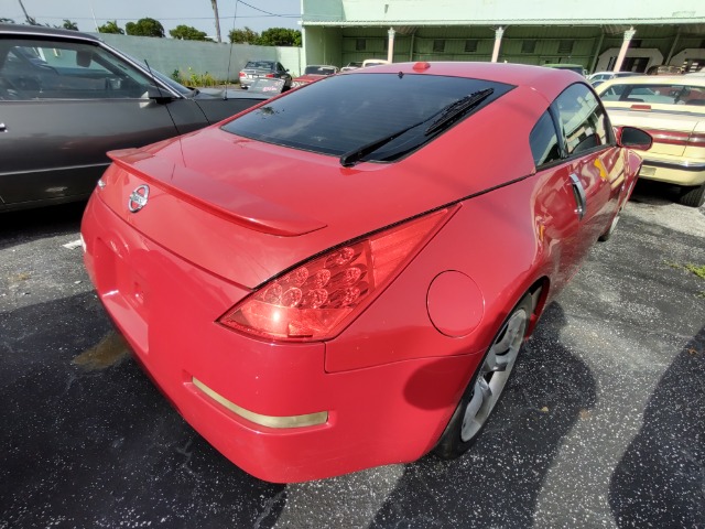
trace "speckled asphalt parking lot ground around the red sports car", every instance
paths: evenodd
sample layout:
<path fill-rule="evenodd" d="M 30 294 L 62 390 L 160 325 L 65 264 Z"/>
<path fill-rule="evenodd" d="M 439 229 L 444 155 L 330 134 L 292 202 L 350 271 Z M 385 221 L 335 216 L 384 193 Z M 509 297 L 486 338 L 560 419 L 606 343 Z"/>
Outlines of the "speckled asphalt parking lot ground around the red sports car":
<path fill-rule="evenodd" d="M 4 214 L 0 528 L 705 529 L 705 206 L 673 198 L 639 183 L 464 457 L 286 486 L 131 359 L 69 245 L 83 205 Z"/>

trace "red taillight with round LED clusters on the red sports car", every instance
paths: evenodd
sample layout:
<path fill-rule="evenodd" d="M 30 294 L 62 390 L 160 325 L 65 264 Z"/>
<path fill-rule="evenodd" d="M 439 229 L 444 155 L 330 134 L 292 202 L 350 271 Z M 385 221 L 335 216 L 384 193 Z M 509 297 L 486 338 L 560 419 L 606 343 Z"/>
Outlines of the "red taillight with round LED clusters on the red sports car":
<path fill-rule="evenodd" d="M 264 284 L 218 322 L 273 339 L 329 338 L 391 281 L 447 212 L 432 213 L 312 259 Z"/>

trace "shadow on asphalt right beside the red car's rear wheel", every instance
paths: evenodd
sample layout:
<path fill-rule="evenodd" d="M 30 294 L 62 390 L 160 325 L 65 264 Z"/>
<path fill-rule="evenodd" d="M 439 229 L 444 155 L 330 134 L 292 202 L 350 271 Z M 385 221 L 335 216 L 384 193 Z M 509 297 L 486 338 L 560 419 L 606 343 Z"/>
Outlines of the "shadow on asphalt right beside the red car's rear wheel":
<path fill-rule="evenodd" d="M 589 369 L 560 343 L 565 323 L 552 303 L 476 444 L 406 465 L 370 527 L 531 527 L 561 440 L 595 406 Z"/>

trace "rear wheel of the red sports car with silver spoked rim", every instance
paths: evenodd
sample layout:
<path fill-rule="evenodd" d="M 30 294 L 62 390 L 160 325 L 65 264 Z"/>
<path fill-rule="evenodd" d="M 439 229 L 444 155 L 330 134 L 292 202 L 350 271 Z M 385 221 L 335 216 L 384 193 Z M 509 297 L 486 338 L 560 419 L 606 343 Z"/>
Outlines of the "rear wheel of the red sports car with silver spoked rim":
<path fill-rule="evenodd" d="M 502 323 L 434 449 L 437 456 L 452 460 L 463 455 L 487 424 L 523 345 L 531 307 L 528 294 Z"/>

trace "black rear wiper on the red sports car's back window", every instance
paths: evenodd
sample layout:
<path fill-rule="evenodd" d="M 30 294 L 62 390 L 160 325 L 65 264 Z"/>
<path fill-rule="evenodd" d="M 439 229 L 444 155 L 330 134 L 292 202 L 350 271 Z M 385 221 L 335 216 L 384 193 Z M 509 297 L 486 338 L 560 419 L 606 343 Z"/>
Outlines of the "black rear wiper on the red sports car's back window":
<path fill-rule="evenodd" d="M 431 117 L 422 121 L 419 121 L 414 125 L 405 127 L 401 130 L 398 130 L 397 132 L 392 132 L 391 134 L 380 138 L 378 140 L 370 141 L 369 143 L 366 143 L 362 147 L 355 148 L 351 151 L 348 151 L 340 156 L 340 165 L 343 165 L 344 168 L 354 166 L 357 162 L 359 162 L 361 159 L 364 159 L 368 154 L 371 154 L 378 149 L 384 147 L 387 143 L 392 142 L 400 136 L 409 132 L 411 129 L 415 129 L 416 127 L 420 127 L 423 123 L 431 121 L 433 118 L 440 115 L 437 119 L 433 123 L 431 123 L 429 128 L 424 131 L 424 136 L 431 136 L 434 132 L 437 132 L 438 130 L 445 128 L 446 126 L 455 122 L 455 120 L 457 120 L 468 110 L 471 110 L 473 108 L 477 107 L 480 102 L 482 102 L 485 99 L 491 96 L 494 91 L 495 91 L 495 88 L 487 88 L 485 90 L 474 91 L 473 94 L 469 94 L 463 97 L 462 99 L 458 99 L 457 101 L 452 102 L 447 107 L 442 108 L 441 110 L 438 110 L 437 112 L 435 112 L 434 115 L 432 115 Z"/>

